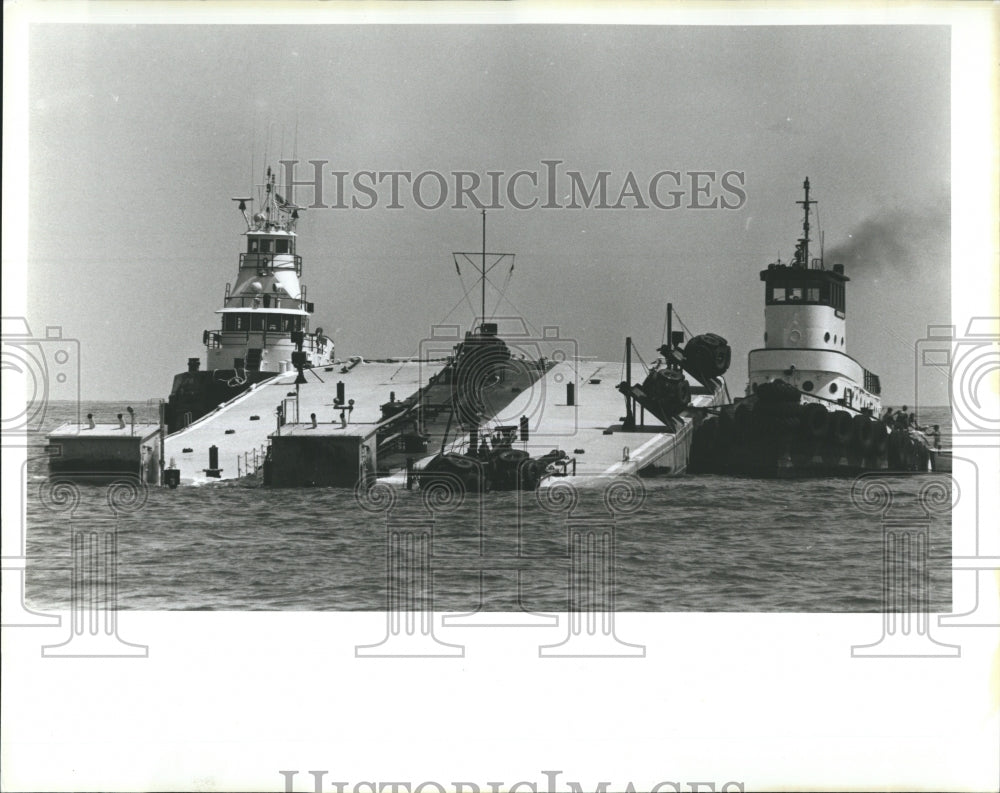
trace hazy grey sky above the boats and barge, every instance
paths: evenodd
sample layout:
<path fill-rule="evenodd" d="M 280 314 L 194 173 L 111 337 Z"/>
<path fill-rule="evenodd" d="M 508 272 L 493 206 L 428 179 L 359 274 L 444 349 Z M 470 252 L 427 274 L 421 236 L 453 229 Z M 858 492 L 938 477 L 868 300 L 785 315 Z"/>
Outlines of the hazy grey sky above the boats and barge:
<path fill-rule="evenodd" d="M 649 360 L 672 301 L 693 331 L 729 339 L 734 394 L 763 343 L 757 273 L 791 256 L 806 176 L 852 279 L 847 351 L 887 402 L 912 401 L 913 344 L 949 319 L 944 27 L 50 24 L 32 28 L 29 58 L 29 320 L 80 340 L 86 398 L 166 396 L 203 353 L 243 242 L 230 197 L 260 181 L 265 150 L 328 172 L 484 180 L 555 159 L 588 185 L 610 171 L 611 203 L 629 172 L 643 190 L 664 170 L 743 172 L 735 210 L 502 196 L 487 216 L 488 248 L 517 254 L 499 314 L 599 358 L 631 335 Z M 303 214 L 313 327 L 340 356 L 413 354 L 433 323 L 472 319 L 451 252 L 479 248 L 479 213 L 422 209 L 409 189 L 403 209 L 383 185 L 374 209 Z"/>

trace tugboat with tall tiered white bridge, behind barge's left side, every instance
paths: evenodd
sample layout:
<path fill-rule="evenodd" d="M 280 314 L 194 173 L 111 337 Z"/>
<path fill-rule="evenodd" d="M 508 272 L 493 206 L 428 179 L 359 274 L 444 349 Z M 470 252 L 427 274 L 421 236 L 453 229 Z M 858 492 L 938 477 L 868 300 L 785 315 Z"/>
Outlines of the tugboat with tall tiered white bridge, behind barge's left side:
<path fill-rule="evenodd" d="M 206 366 L 188 359 L 174 376 L 167 404 L 167 429 L 177 432 L 257 383 L 294 368 L 328 366 L 333 341 L 322 328 L 309 330 L 314 306 L 299 282 L 302 257 L 296 253 L 295 226 L 304 211 L 278 194 L 267 169 L 253 198 L 234 198 L 246 222 L 246 250 L 240 254 L 235 285 L 226 284 L 221 327 L 206 330 Z M 301 342 L 301 346 L 299 343 Z"/>

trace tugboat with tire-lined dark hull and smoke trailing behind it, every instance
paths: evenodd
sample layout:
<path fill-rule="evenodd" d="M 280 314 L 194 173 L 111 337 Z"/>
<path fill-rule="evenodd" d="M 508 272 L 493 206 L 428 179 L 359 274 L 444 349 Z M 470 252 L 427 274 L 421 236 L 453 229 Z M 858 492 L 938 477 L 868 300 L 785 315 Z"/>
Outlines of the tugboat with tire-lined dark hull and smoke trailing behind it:
<path fill-rule="evenodd" d="M 751 350 L 746 396 L 695 434 L 693 471 L 764 477 L 926 471 L 927 441 L 881 416 L 881 384 L 847 354 L 843 264 L 811 257 L 809 179 L 790 263 L 760 273 L 764 347 Z M 885 420 L 883 420 L 885 419 Z"/>

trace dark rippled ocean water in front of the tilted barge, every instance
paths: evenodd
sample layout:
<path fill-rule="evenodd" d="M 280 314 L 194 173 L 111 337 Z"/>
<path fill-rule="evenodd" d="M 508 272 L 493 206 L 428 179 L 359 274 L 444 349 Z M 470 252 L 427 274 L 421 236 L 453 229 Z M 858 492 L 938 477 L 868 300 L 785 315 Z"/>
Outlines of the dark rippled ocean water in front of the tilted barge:
<path fill-rule="evenodd" d="M 82 414 L 113 416 L 122 404 Z M 57 404 L 45 423 L 71 417 Z M 921 421 L 940 424 L 947 444 L 947 409 Z M 395 490 L 391 505 L 381 491 L 359 502 L 344 490 L 219 483 L 117 491 L 113 509 L 105 485 L 50 487 L 44 438 L 32 444 L 26 599 L 36 608 L 68 607 L 74 542 L 113 534 L 121 609 L 381 610 L 399 585 L 437 611 L 883 610 L 881 517 L 859 507 L 859 490 L 852 498 L 851 478 L 686 476 L 460 503 Z M 950 477 L 880 479 L 893 517 L 914 525 L 928 518 L 921 503 L 951 503 Z M 926 594 L 931 611 L 947 612 L 947 507 L 929 521 Z M 86 557 L 91 572 L 100 559 Z"/>

